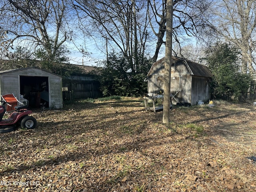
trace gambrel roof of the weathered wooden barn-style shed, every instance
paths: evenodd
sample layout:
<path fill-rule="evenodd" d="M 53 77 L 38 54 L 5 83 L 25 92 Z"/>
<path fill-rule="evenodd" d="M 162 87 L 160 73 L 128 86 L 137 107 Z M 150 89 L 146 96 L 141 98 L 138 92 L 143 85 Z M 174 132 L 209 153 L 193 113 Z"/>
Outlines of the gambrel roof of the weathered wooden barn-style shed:
<path fill-rule="evenodd" d="M 153 69 L 153 67 L 161 62 L 164 62 L 165 57 L 161 58 L 160 60 L 156 61 L 153 63 L 153 65 L 151 66 L 148 75 L 149 76 L 151 74 L 151 71 Z M 179 58 L 176 56 L 172 56 L 172 60 L 177 62 L 177 61 L 182 61 L 186 67 L 188 68 L 188 70 L 190 71 L 191 75 L 194 76 L 202 76 L 202 77 L 212 77 L 212 73 L 209 70 L 209 68 L 205 65 L 187 60 L 187 59 L 183 59 L 183 58 Z"/>

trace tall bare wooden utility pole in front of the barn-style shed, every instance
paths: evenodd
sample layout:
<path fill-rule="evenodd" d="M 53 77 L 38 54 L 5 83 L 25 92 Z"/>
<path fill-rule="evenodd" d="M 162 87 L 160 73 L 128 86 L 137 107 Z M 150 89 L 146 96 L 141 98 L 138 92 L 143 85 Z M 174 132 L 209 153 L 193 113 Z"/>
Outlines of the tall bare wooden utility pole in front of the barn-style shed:
<path fill-rule="evenodd" d="M 163 123 L 170 122 L 170 89 L 171 89 L 171 66 L 172 66 L 172 12 L 173 0 L 166 2 L 166 44 L 164 63 L 164 109 Z"/>

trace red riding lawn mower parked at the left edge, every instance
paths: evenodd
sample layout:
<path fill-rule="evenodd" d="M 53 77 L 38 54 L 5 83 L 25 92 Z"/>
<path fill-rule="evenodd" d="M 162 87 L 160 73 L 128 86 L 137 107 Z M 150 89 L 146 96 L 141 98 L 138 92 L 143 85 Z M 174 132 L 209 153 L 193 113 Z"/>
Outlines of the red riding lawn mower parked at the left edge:
<path fill-rule="evenodd" d="M 26 109 L 28 107 L 28 101 L 19 102 L 13 94 L 7 94 L 1 96 L 2 104 L 0 105 L 0 133 L 7 133 L 16 130 L 19 127 L 25 129 L 36 128 L 36 119 L 29 114 L 32 114 L 31 110 Z M 2 119 L 6 112 L 6 105 L 11 106 L 13 99 L 20 103 L 20 106 L 15 106 L 14 111 L 10 114 L 8 119 Z M 8 102 L 8 100 L 10 100 Z"/>

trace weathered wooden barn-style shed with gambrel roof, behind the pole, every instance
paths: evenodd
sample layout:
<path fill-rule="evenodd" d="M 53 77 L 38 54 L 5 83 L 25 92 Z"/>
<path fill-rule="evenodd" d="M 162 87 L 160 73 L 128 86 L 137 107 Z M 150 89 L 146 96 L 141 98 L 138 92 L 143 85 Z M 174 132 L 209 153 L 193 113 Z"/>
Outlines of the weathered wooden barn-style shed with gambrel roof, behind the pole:
<path fill-rule="evenodd" d="M 164 62 L 162 58 L 153 63 L 148 72 L 148 93 L 157 93 L 164 87 Z M 171 94 L 173 104 L 196 105 L 211 98 L 209 81 L 212 74 L 207 66 L 172 56 Z"/>

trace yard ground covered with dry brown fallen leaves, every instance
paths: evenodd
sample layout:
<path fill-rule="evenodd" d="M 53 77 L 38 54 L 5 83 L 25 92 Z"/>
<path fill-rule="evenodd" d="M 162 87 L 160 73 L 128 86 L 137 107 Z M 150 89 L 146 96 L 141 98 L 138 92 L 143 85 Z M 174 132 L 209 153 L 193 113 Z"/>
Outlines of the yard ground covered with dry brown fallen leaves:
<path fill-rule="evenodd" d="M 35 112 L 0 135 L 0 191 L 256 191 L 256 106 L 214 104 L 170 124 L 138 98 Z"/>

